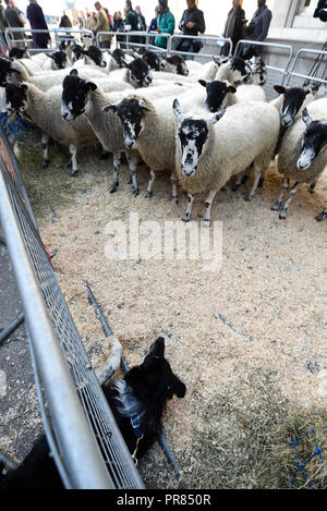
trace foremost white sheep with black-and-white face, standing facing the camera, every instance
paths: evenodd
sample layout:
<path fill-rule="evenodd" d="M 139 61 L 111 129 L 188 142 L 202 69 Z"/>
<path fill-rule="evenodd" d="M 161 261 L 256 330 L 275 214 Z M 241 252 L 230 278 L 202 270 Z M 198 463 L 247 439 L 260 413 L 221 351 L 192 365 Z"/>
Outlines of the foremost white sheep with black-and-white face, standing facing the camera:
<path fill-rule="evenodd" d="M 274 106 L 259 101 L 235 105 L 210 118 L 184 117 L 178 100 L 173 110 L 179 120 L 178 181 L 189 195 L 183 220 L 191 219 L 195 194 L 206 192 L 204 226 L 209 227 L 214 198 L 231 177 L 252 163 L 255 175 L 268 167 L 279 135 L 279 115 Z"/>

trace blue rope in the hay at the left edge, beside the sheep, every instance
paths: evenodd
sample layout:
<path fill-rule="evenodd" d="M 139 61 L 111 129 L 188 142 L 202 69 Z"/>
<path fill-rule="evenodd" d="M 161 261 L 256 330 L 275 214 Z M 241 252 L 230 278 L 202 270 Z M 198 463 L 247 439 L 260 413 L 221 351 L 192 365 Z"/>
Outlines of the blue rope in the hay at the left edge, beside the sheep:
<path fill-rule="evenodd" d="M 39 132 L 24 121 L 21 115 L 8 118 L 7 113 L 0 112 L 0 122 L 7 135 L 12 135 L 14 142 L 23 144 L 28 149 L 33 150 L 40 147 Z"/>

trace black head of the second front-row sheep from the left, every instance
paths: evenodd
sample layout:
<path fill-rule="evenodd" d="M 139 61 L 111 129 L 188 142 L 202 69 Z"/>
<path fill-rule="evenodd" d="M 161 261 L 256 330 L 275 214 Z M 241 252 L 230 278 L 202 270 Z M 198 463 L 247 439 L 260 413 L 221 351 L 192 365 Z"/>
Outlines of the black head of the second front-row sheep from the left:
<path fill-rule="evenodd" d="M 85 112 L 88 95 L 96 90 L 93 82 L 80 78 L 77 71 L 72 70 L 62 83 L 61 117 L 64 121 L 74 121 Z"/>

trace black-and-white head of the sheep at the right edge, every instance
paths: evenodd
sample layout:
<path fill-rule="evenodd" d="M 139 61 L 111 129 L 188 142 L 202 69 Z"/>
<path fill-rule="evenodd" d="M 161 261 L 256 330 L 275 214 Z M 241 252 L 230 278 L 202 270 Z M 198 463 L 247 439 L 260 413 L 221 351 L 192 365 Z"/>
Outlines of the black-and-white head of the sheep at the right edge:
<path fill-rule="evenodd" d="M 306 124 L 303 136 L 302 153 L 298 160 L 299 170 L 308 169 L 314 159 L 326 148 L 327 145 L 327 122 L 313 121 L 307 113 L 306 108 L 303 110 L 302 120 Z"/>

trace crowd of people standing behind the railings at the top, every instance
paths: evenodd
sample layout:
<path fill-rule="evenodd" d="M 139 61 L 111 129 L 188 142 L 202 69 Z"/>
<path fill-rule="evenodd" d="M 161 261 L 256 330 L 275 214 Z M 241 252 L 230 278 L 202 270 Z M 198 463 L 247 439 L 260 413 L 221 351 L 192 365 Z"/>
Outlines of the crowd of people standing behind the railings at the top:
<path fill-rule="evenodd" d="M 173 35 L 177 28 L 179 28 L 180 33 L 186 37 L 180 40 L 177 49 L 182 52 L 197 53 L 203 47 L 201 34 L 204 34 L 206 31 L 205 16 L 203 11 L 197 8 L 196 0 L 185 1 L 186 9 L 178 26 L 175 17 L 168 5 L 168 0 L 158 0 L 155 17 L 148 26 L 141 7 L 136 5 L 133 9 L 132 1 L 126 0 L 124 13 L 122 14 L 121 11 L 117 11 L 113 15 L 110 15 L 108 9 L 102 7 L 99 1 L 96 1 L 94 12 L 85 9 L 85 11 L 78 13 L 77 28 L 92 31 L 95 36 L 99 33 L 98 42 L 101 48 L 110 48 L 114 33 L 148 32 L 153 34 L 150 42 L 164 49 L 167 48 L 167 37 L 165 37 L 165 34 Z M 16 8 L 14 0 L 4 0 L 4 3 L 7 4 L 5 9 L 2 5 L 2 0 L 0 0 L 1 33 L 4 33 L 7 26 L 23 28 L 26 23 L 24 14 Z M 267 37 L 272 16 L 271 11 L 266 5 L 266 0 L 258 0 L 257 11 L 251 22 L 246 23 L 242 3 L 242 0 L 232 0 L 231 10 L 222 33 L 225 38 L 232 40 L 233 48 L 235 48 L 240 39 L 263 41 Z M 48 29 L 43 9 L 37 0 L 29 0 L 26 17 L 29 21 L 32 29 Z M 58 19 L 58 26 L 61 28 L 72 27 L 72 21 L 65 12 L 63 12 L 60 20 Z M 24 34 L 22 32 L 13 33 L 12 38 L 15 40 L 23 39 Z M 121 47 L 124 46 L 125 38 L 123 36 L 118 35 L 117 40 Z M 129 40 L 131 42 L 144 42 L 144 37 L 133 34 Z M 33 34 L 33 41 L 35 47 L 47 48 L 50 35 L 49 33 Z M 229 46 L 226 45 L 222 51 L 228 54 L 228 50 Z M 251 42 L 244 45 L 243 57 L 250 58 L 251 53 L 253 54 L 255 50 Z"/>

